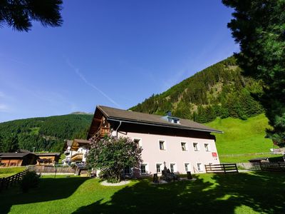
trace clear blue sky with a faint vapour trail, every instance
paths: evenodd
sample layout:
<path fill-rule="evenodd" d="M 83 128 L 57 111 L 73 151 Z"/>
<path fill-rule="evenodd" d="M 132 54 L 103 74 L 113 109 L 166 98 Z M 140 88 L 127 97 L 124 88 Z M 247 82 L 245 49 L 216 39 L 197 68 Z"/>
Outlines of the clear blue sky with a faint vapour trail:
<path fill-rule="evenodd" d="M 130 108 L 239 51 L 231 13 L 218 0 L 65 1 L 59 28 L 3 27 L 0 122 Z"/>

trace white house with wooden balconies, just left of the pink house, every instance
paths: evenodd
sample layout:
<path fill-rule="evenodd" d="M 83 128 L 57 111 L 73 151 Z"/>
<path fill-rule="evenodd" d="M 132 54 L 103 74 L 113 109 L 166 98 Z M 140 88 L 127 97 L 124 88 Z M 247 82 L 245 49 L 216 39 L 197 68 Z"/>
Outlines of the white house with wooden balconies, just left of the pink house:
<path fill-rule="evenodd" d="M 71 163 L 86 163 L 88 151 L 90 149 L 90 141 L 83 139 L 74 139 L 71 143 L 70 151 L 72 155 Z"/>

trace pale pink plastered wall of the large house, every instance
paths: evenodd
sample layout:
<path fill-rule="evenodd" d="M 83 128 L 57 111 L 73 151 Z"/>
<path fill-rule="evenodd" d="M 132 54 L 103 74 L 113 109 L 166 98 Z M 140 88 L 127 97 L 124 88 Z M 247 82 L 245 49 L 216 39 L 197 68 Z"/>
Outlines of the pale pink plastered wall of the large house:
<path fill-rule="evenodd" d="M 116 133 L 113 132 L 113 136 Z M 167 168 L 171 165 L 175 173 L 185 174 L 185 164 L 191 173 L 204 173 L 205 164 L 219 164 L 219 156 L 213 157 L 212 153 L 217 153 L 215 141 L 213 139 L 187 138 L 180 136 L 163 136 L 147 133 L 120 133 L 118 137 L 129 137 L 139 139 L 142 146 L 142 160 L 146 165 L 147 173 L 157 173 L 157 164 L 161 164 L 161 170 L 164 162 Z M 160 149 L 160 141 L 164 142 L 164 150 Z M 182 150 L 182 144 L 185 143 L 185 151 Z M 197 150 L 193 143 L 197 143 Z M 205 146 L 207 144 L 207 148 Z M 160 173 L 158 173 L 160 175 Z"/>

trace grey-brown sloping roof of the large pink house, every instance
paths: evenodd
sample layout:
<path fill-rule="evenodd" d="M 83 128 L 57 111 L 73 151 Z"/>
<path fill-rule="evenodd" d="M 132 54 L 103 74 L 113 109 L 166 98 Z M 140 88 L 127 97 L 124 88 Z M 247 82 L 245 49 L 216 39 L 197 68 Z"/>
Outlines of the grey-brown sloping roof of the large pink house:
<path fill-rule="evenodd" d="M 222 131 L 204 126 L 200 123 L 180 118 L 180 123 L 171 123 L 164 119 L 163 116 L 140 113 L 136 111 L 126 111 L 118 108 L 110 108 L 108 106 L 97 106 L 100 111 L 105 115 L 108 120 L 120 120 L 130 123 L 152 124 L 155 126 L 165 126 L 170 128 L 182 128 L 195 131 L 206 131 L 214 133 L 223 133 Z"/>

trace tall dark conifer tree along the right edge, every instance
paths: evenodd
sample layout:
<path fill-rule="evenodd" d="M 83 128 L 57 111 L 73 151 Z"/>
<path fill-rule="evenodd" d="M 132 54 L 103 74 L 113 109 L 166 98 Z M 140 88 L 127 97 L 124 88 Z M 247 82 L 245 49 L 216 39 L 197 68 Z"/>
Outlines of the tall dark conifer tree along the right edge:
<path fill-rule="evenodd" d="M 223 0 L 234 9 L 228 27 L 239 43 L 236 54 L 244 74 L 261 80 L 259 96 L 269 124 L 267 136 L 279 146 L 285 144 L 285 1 Z"/>

